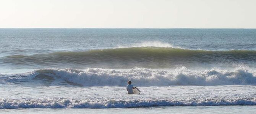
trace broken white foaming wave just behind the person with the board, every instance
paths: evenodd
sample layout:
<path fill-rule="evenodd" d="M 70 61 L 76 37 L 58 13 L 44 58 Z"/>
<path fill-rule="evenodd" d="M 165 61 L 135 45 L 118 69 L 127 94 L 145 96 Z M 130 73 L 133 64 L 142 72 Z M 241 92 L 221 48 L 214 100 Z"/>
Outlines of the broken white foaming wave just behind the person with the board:
<path fill-rule="evenodd" d="M 8 77 L 8 76 L 7 76 Z M 170 86 L 170 85 L 256 85 L 256 71 L 238 68 L 233 71 L 213 68 L 205 71 L 190 71 L 179 67 L 174 71 L 150 70 L 134 68 L 126 71 L 89 68 L 85 71 L 75 69 L 42 69 L 31 73 L 2 79 L 6 82 L 33 82 L 35 79 L 42 83 L 62 80 L 81 86 L 126 86 L 131 80 L 136 86 Z M 36 82 L 37 83 L 37 82 Z"/>

